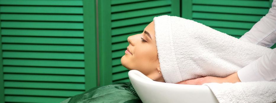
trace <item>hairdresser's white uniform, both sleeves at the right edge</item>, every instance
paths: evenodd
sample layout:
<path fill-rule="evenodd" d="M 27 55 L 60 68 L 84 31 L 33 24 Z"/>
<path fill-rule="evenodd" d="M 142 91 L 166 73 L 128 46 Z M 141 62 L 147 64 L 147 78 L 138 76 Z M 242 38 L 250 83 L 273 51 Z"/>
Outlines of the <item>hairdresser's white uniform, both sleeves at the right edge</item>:
<path fill-rule="evenodd" d="M 265 47 L 271 47 L 276 42 L 276 0 L 268 14 L 262 17 L 250 31 L 240 38 Z M 241 82 L 276 81 L 276 48 L 254 62 L 238 70 Z"/>

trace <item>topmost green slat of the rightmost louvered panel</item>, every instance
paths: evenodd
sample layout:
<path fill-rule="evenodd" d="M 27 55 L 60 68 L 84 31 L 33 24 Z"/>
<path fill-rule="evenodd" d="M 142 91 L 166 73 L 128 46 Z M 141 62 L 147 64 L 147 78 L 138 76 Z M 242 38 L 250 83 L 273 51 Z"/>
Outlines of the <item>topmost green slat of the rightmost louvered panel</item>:
<path fill-rule="evenodd" d="M 264 8 L 268 8 L 270 5 L 269 1 L 261 0 L 193 0 L 193 4 Z"/>

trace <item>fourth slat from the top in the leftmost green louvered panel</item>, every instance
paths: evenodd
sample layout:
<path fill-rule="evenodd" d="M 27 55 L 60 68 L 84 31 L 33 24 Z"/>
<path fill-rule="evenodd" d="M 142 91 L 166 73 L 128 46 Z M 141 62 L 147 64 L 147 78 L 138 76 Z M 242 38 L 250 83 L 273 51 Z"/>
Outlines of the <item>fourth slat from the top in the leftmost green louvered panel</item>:
<path fill-rule="evenodd" d="M 78 22 L 34 22 L 34 21 L 1 21 L 2 28 L 31 29 L 83 29 L 83 23 Z"/>

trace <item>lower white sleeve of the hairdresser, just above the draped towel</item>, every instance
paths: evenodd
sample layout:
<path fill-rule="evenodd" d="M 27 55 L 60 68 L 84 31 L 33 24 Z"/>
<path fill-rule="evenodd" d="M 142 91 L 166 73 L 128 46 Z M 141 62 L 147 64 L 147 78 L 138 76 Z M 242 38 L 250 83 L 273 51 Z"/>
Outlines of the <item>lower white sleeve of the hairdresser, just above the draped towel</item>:
<path fill-rule="evenodd" d="M 241 82 L 275 81 L 276 48 L 238 70 L 238 77 Z"/>

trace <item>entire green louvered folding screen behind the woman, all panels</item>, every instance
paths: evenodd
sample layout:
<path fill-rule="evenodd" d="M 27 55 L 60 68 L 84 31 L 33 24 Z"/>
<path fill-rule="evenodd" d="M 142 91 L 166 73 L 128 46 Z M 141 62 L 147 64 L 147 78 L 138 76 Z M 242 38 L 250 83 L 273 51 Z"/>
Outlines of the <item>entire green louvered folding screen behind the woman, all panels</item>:
<path fill-rule="evenodd" d="M 129 82 L 120 63 L 127 37 L 143 32 L 154 16 L 181 16 L 239 38 L 271 3 L 0 0 L 0 103 L 60 102 L 97 85 Z"/>

